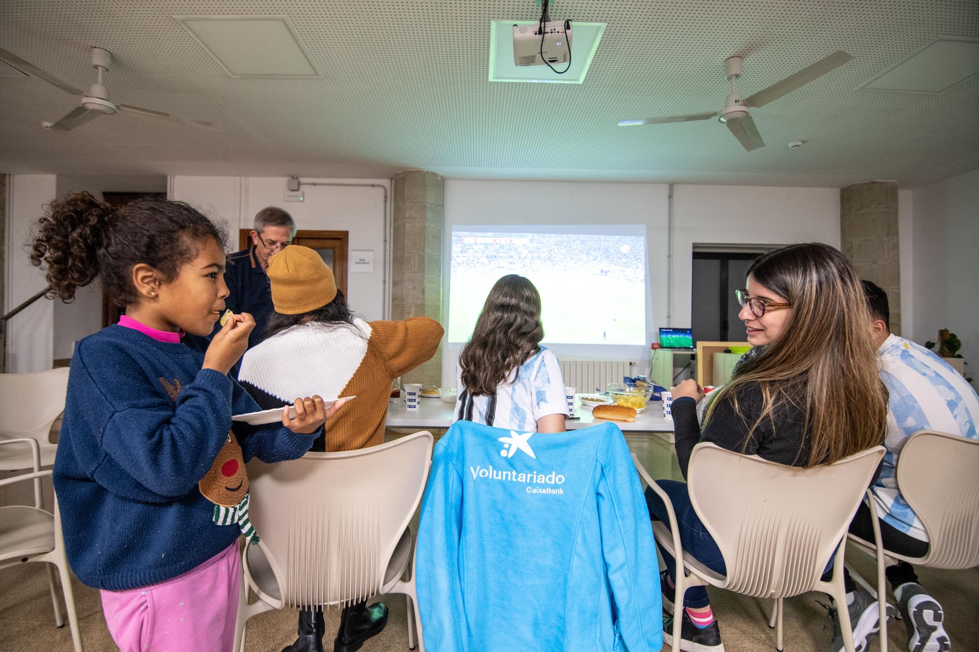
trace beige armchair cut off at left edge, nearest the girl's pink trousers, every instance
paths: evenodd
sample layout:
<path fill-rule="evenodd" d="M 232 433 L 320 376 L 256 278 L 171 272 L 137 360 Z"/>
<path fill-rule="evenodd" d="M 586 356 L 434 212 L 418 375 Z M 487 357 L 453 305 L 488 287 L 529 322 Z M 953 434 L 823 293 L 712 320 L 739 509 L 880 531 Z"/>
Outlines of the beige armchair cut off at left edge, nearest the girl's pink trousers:
<path fill-rule="evenodd" d="M 74 594 L 71 591 L 71 574 L 68 557 L 65 555 L 65 539 L 62 536 L 61 513 L 58 511 L 58 496 L 55 496 L 54 513 L 45 511 L 41 503 L 39 480 L 50 476 L 51 471 L 40 470 L 40 451 L 36 440 L 6 440 L 0 442 L 0 448 L 5 445 L 23 446 L 30 448 L 28 457 L 33 458 L 33 472 L 23 476 L 15 476 L 0 480 L 0 487 L 21 483 L 28 480 L 34 483 L 34 506 L 9 505 L 0 507 L 0 569 L 17 566 L 24 562 L 47 562 L 48 584 L 51 587 L 51 601 L 55 608 L 55 624 L 65 626 L 61 604 L 58 601 L 58 591 L 55 588 L 55 574 L 51 564 L 58 567 L 61 576 L 62 592 L 65 594 L 65 607 L 68 610 L 68 620 L 71 627 L 71 640 L 75 652 L 83 652 L 81 630 L 78 629 L 78 614 L 74 608 Z"/>

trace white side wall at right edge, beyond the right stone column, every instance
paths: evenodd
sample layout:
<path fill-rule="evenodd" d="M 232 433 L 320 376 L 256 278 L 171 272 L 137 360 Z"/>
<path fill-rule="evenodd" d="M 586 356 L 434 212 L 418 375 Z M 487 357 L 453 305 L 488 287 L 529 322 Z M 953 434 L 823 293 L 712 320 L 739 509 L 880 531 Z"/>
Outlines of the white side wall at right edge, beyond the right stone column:
<path fill-rule="evenodd" d="M 948 328 L 979 378 L 979 169 L 914 190 L 912 205 L 911 333 L 924 343 Z"/>

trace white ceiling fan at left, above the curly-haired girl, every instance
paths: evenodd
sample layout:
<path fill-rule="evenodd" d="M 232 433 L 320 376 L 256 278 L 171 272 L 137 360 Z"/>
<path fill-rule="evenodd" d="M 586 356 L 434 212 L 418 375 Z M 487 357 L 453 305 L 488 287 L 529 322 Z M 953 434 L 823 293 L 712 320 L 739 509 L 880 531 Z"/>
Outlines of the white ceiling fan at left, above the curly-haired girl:
<path fill-rule="evenodd" d="M 81 126 L 85 122 L 93 120 L 98 116 L 112 116 L 119 111 L 131 111 L 134 114 L 142 114 L 143 116 L 163 117 L 164 119 L 182 122 L 183 124 L 190 124 L 191 126 L 201 127 L 203 129 L 220 129 L 218 125 L 205 120 L 195 120 L 188 117 L 173 116 L 171 114 L 164 114 L 162 111 L 135 107 L 131 104 L 116 104 L 115 102 L 111 102 L 109 100 L 109 89 L 107 89 L 102 83 L 102 75 L 109 70 L 109 66 L 113 63 L 113 54 L 109 52 L 109 50 L 92 48 L 92 67 L 95 68 L 99 76 L 96 82 L 89 87 L 88 93 L 82 92 L 69 83 L 62 81 L 53 74 L 49 74 L 36 66 L 28 64 L 14 53 L 8 52 L 3 48 L 0 48 L 0 59 L 4 60 L 18 70 L 22 70 L 23 72 L 27 72 L 35 77 L 43 79 L 52 86 L 62 89 L 66 93 L 81 97 L 81 106 L 74 109 L 68 116 L 64 116 L 57 122 L 41 122 L 41 125 L 47 129 L 69 131 L 70 129 Z"/>

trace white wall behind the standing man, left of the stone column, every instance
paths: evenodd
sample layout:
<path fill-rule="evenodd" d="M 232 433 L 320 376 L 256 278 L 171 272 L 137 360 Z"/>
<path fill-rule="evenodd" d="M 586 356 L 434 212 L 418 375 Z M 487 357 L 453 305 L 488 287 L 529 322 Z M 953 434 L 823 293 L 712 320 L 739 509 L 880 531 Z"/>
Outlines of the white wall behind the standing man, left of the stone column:
<path fill-rule="evenodd" d="M 382 188 L 303 185 L 304 201 L 284 201 L 286 177 L 174 176 L 170 179 L 170 199 L 181 200 L 221 219 L 231 231 L 231 251 L 238 249 L 238 229 L 251 229 L 255 214 L 267 206 L 288 210 L 300 229 L 349 232 L 350 250 L 374 252 L 374 271 L 348 273 L 348 303 L 367 320 L 387 315 L 385 261 L 385 190 L 390 179 L 314 179 L 303 183 L 373 183 Z M 390 201 L 387 210 L 391 210 Z"/>

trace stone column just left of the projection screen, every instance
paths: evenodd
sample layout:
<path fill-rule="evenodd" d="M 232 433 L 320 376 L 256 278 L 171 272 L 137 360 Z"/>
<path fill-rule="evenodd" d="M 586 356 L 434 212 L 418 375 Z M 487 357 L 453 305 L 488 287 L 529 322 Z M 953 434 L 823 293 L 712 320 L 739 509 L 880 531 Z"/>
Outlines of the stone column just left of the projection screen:
<path fill-rule="evenodd" d="M 392 318 L 424 315 L 442 322 L 445 180 L 434 172 L 406 169 L 394 176 L 392 185 Z M 442 349 L 403 381 L 442 385 Z"/>

